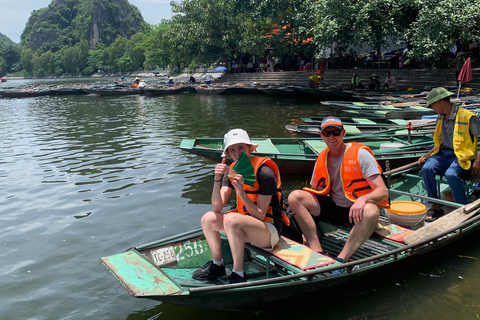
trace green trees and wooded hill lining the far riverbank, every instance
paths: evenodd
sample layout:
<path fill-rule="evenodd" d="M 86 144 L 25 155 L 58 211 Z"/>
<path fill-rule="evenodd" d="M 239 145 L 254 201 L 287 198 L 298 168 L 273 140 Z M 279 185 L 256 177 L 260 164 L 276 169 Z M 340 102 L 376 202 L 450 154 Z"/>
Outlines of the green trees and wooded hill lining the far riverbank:
<path fill-rule="evenodd" d="M 349 46 L 381 53 L 392 39 L 407 43 L 411 57 L 438 58 L 480 38 L 478 0 L 184 0 L 171 6 L 170 20 L 147 25 L 127 0 L 52 0 L 32 12 L 20 48 L 0 34 L 0 71 L 189 67 L 252 54 L 262 59 L 271 47 L 280 58 L 311 57 L 332 46 L 338 54 Z"/>

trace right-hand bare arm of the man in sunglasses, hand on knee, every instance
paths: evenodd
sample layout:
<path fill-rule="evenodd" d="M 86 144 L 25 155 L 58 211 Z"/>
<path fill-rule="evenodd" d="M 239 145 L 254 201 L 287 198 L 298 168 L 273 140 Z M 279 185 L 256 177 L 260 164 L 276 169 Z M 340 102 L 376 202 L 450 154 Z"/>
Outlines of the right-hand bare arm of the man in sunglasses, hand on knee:
<path fill-rule="evenodd" d="M 379 204 L 388 198 L 388 189 L 380 174 L 370 176 L 366 180 L 370 187 L 372 187 L 372 192 L 359 197 L 357 201 L 355 201 L 355 203 L 350 207 L 350 222 L 358 223 L 362 221 L 363 208 L 367 203 Z"/>

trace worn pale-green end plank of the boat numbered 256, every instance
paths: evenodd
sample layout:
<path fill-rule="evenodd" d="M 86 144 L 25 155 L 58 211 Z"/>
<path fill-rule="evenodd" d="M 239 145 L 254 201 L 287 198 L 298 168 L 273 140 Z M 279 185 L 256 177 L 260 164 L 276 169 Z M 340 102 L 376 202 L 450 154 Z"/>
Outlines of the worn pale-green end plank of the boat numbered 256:
<path fill-rule="evenodd" d="M 165 273 L 136 251 L 100 258 L 102 264 L 134 297 L 182 294 Z"/>

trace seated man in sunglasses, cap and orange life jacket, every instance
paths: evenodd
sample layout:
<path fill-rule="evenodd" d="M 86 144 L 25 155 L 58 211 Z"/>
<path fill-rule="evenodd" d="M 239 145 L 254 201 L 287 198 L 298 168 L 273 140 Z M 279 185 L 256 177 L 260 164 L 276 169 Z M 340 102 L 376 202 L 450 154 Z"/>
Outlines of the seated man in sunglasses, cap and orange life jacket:
<path fill-rule="evenodd" d="M 377 205 L 388 207 L 388 189 L 370 149 L 343 141 L 345 130 L 339 118 L 323 119 L 320 136 L 327 148 L 315 163 L 312 187 L 294 190 L 288 202 L 312 250 L 323 252 L 315 221 L 354 224 L 337 257 L 346 262 L 375 230 L 380 216 Z"/>

